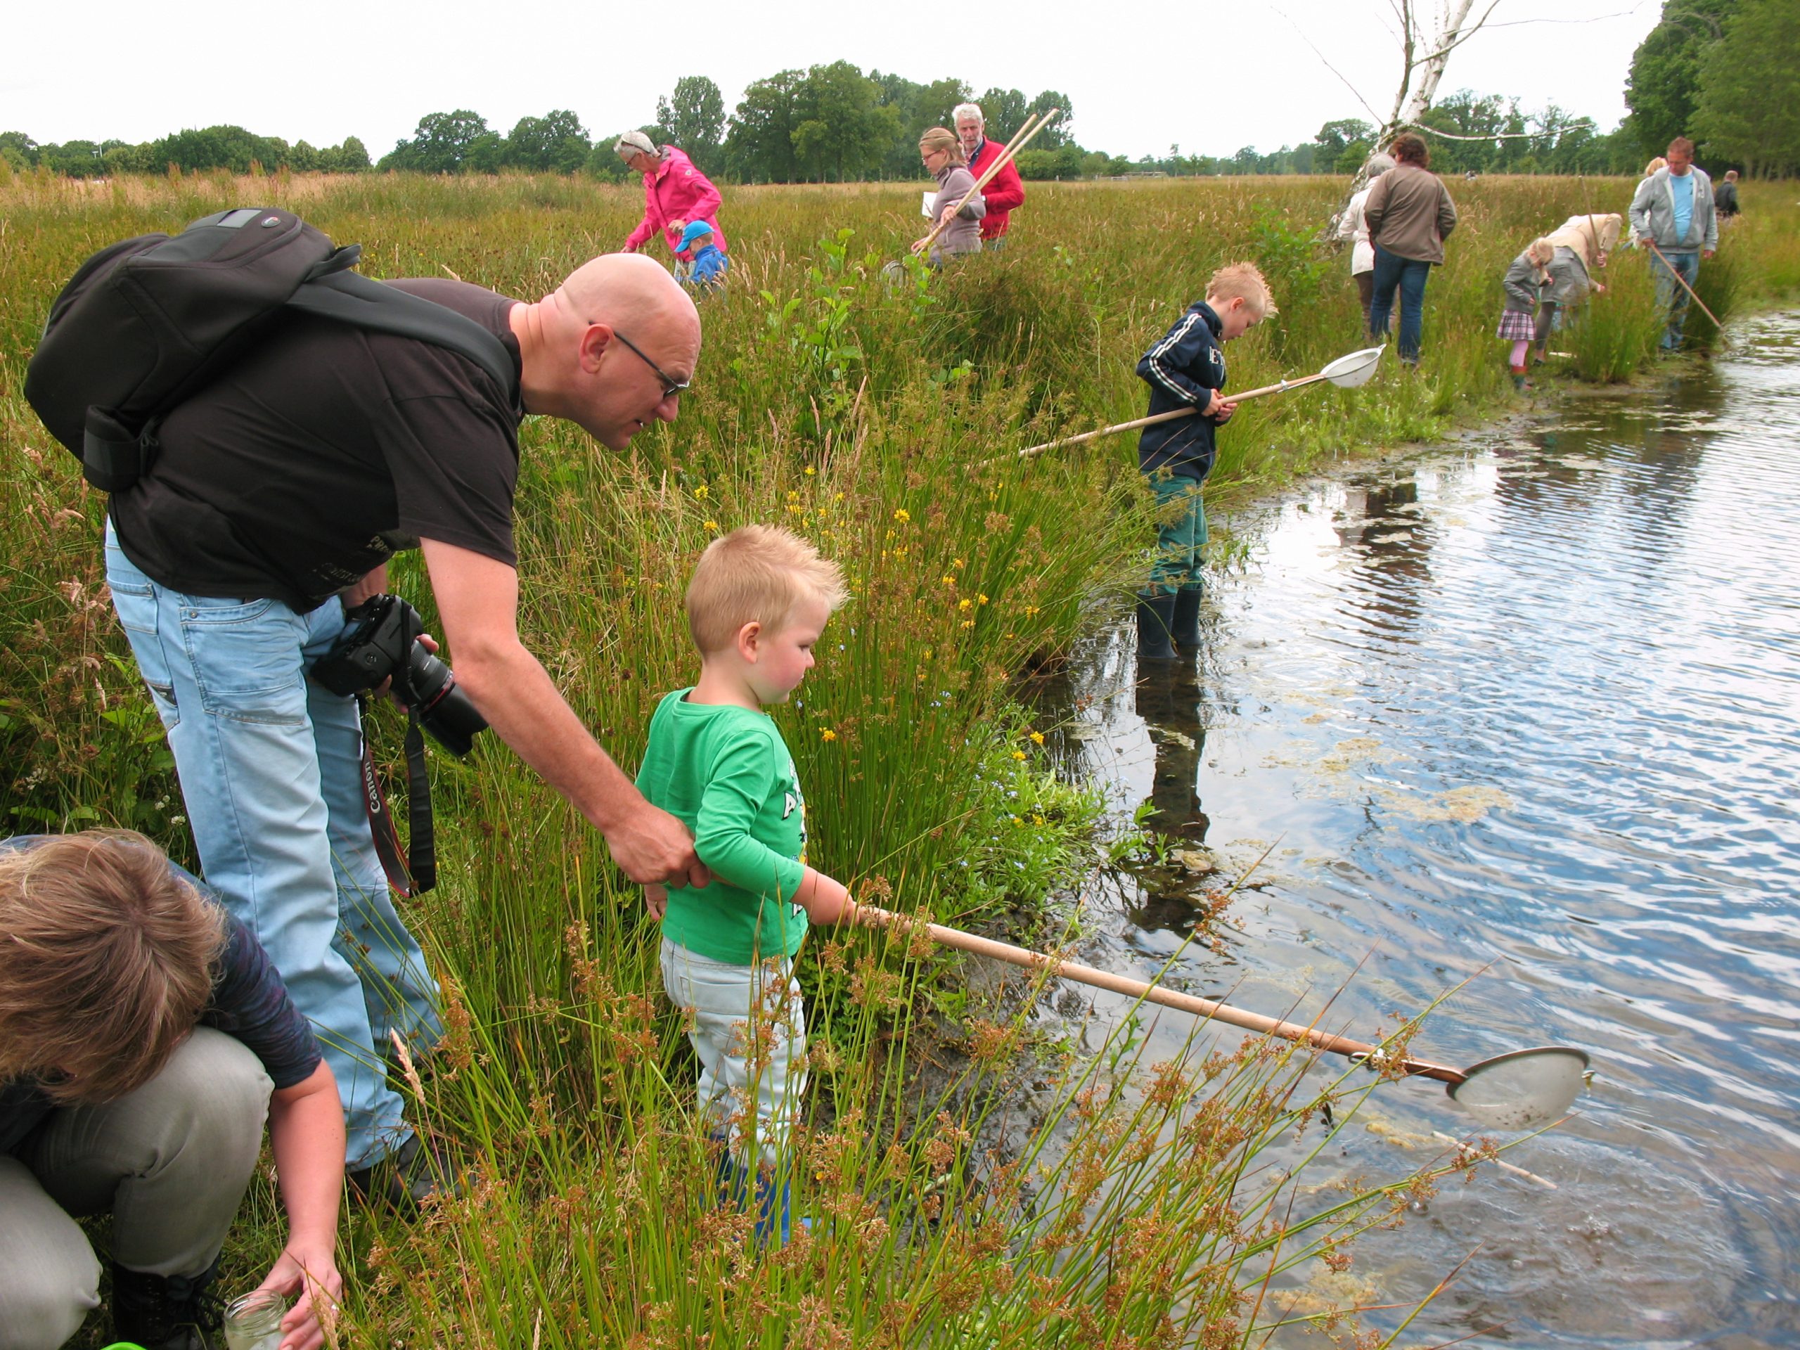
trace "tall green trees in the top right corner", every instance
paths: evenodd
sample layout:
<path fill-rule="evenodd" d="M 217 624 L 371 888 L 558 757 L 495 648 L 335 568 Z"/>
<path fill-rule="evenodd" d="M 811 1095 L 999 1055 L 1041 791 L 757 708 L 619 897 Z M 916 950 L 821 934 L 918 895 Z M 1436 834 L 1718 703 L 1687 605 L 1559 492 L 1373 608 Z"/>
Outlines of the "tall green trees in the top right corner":
<path fill-rule="evenodd" d="M 1645 157 L 1678 135 L 1751 176 L 1800 173 L 1795 0 L 1665 0 L 1631 58 L 1625 130 Z"/>

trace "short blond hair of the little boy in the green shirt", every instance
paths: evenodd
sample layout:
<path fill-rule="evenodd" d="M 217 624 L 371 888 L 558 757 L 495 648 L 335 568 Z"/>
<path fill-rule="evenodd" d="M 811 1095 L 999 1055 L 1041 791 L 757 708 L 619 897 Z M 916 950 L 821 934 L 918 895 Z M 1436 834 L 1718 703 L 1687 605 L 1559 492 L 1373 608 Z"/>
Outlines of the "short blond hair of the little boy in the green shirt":
<path fill-rule="evenodd" d="M 700 655 L 724 652 L 747 623 L 778 632 L 801 599 L 839 608 L 844 572 L 799 535 L 778 526 L 740 526 L 713 540 L 688 583 L 688 632 Z"/>

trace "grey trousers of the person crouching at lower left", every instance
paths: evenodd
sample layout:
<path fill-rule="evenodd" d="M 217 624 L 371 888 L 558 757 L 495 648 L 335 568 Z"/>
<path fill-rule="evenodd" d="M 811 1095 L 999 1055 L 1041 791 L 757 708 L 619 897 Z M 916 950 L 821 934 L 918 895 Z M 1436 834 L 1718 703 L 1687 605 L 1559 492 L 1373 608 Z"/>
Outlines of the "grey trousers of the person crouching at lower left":
<path fill-rule="evenodd" d="M 112 1213 L 112 1256 L 128 1271 L 212 1265 L 263 1148 L 270 1089 L 256 1055 L 202 1026 L 130 1096 L 63 1107 L 0 1156 L 0 1350 L 56 1350 L 99 1307 L 77 1217 Z"/>

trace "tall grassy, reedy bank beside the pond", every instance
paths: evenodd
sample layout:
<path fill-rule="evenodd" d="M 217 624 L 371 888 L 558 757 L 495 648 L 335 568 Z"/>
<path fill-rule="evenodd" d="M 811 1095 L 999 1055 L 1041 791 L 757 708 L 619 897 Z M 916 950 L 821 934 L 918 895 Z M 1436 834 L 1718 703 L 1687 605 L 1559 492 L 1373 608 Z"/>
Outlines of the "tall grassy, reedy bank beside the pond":
<path fill-rule="evenodd" d="M 1568 214 L 1622 209 L 1629 191 L 1453 184 L 1463 225 L 1427 292 L 1422 374 L 1390 367 L 1355 392 L 1247 405 L 1222 437 L 1215 491 L 1265 490 L 1510 403 L 1492 338 L 1507 261 Z M 792 524 L 855 590 L 781 713 L 815 803 L 817 860 L 909 913 L 979 922 L 1039 905 L 1103 859 L 1094 805 L 1049 776 L 1015 679 L 1116 607 L 1148 533 L 1129 439 L 1030 466 L 981 461 L 1138 416 L 1138 355 L 1222 261 L 1256 259 L 1282 306 L 1231 349 L 1237 387 L 1361 346 L 1346 259 L 1312 243 L 1336 193 L 1319 180 L 1033 185 L 1006 254 L 895 295 L 877 274 L 918 232 L 916 187 L 729 193 L 736 270 L 704 306 L 680 421 L 623 457 L 560 425 L 524 430 L 527 644 L 635 765 L 653 700 L 693 673 L 679 607 L 693 556 L 740 522 Z M 1744 196 L 1748 220 L 1703 270 L 1708 302 L 1800 286 L 1800 212 L 1775 189 Z M 110 617 L 103 500 L 18 387 L 49 297 L 81 257 L 248 200 L 360 239 L 376 275 L 450 272 L 524 297 L 616 247 L 639 203 L 527 178 L 0 187 L 9 830 L 121 823 L 189 851 L 160 725 Z M 1566 344 L 1591 378 L 1629 378 L 1656 337 L 1642 261 L 1611 272 L 1613 293 Z M 1705 337 L 1699 315 L 1690 333 Z M 428 608 L 416 567 L 401 565 L 398 585 Z M 382 745 L 398 754 L 391 720 Z M 452 1039 L 412 1091 L 463 1141 L 477 1181 L 416 1228 L 347 1226 L 351 1343 L 1235 1345 L 1280 1319 L 1276 1291 L 1346 1260 L 1355 1231 L 1399 1213 L 1433 1170 L 1471 1161 L 1330 1201 L 1301 1193 L 1296 1166 L 1328 1136 L 1303 1057 L 1202 1042 L 1166 1066 L 1138 1064 L 1123 1042 L 1075 1057 L 979 1012 L 956 1031 L 967 1080 L 922 1098 L 905 1051 L 934 963 L 904 936 L 815 940 L 803 954 L 815 1087 L 796 1150 L 815 1228 L 758 1255 L 743 1220 L 707 1204 L 691 1066 L 673 1017 L 646 997 L 653 929 L 635 893 L 491 736 L 436 776 L 445 882 L 416 916 L 446 979 Z M 1039 1057 L 1058 1107 L 1017 1156 L 981 1156 L 972 1141 L 983 1112 L 1003 1109 L 1019 1055 Z M 1345 1105 L 1366 1084 L 1345 1084 Z M 245 1226 L 238 1273 L 266 1256 L 272 1231 Z"/>

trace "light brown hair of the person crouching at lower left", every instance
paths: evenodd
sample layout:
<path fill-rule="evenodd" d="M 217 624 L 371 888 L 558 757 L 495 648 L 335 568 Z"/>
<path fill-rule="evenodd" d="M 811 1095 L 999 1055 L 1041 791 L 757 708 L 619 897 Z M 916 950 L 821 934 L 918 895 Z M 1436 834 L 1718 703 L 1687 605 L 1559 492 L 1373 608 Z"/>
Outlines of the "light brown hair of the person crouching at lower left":
<path fill-rule="evenodd" d="M 0 853 L 0 1082 L 113 1102 L 212 997 L 225 914 L 144 835 L 85 830 Z"/>

